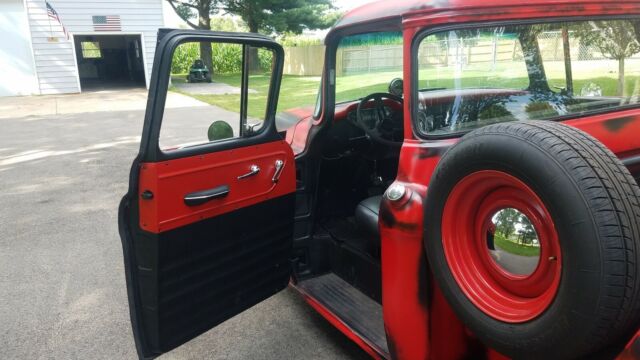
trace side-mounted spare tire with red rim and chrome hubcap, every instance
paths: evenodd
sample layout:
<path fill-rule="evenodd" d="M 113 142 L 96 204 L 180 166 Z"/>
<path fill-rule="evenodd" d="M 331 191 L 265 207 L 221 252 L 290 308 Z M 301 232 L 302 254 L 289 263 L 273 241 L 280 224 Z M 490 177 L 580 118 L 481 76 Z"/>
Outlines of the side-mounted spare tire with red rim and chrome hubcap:
<path fill-rule="evenodd" d="M 424 228 L 455 313 L 505 355 L 610 354 L 640 325 L 640 189 L 580 130 L 530 121 L 465 135 L 431 178 Z"/>

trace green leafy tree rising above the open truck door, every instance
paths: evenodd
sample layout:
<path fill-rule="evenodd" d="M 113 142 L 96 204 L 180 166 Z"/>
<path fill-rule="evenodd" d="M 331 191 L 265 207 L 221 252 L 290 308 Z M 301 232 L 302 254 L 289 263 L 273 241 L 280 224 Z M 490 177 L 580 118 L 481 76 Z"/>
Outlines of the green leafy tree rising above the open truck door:
<path fill-rule="evenodd" d="M 211 15 L 240 17 L 250 32 L 300 34 L 305 29 L 326 29 L 338 17 L 331 0 L 167 0 L 176 13 L 194 29 L 209 30 Z M 191 21 L 198 18 L 197 23 Z M 206 50 L 206 49 L 204 49 Z M 211 52 L 209 51 L 209 55 Z M 210 58 L 210 56 L 209 56 Z M 203 56 L 203 60 L 204 56 Z M 250 48 L 249 68 L 259 69 L 258 49 Z"/>

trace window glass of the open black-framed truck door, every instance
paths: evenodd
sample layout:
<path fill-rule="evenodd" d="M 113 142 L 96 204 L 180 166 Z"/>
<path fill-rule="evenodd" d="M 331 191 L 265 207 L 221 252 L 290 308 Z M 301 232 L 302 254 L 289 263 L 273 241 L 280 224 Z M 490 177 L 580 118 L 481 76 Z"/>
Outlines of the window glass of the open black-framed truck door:
<path fill-rule="evenodd" d="M 180 44 L 171 63 L 160 148 L 170 151 L 259 132 L 266 116 L 273 62 L 273 52 L 267 48 Z M 241 106 L 243 98 L 246 108 Z"/>

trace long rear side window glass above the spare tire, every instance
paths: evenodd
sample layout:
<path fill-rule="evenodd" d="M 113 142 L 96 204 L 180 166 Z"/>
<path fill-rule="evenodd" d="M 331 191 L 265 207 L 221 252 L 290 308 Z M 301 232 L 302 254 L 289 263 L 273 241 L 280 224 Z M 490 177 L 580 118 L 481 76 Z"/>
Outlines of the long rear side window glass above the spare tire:
<path fill-rule="evenodd" d="M 419 132 L 540 120 L 636 104 L 640 23 L 562 22 L 454 30 L 417 54 Z"/>

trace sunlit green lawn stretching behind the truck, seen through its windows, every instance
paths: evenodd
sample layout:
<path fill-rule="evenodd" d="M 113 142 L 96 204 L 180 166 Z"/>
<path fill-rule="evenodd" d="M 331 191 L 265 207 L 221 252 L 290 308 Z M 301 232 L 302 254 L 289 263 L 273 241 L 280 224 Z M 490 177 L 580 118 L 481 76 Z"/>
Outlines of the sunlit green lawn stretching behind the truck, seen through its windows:
<path fill-rule="evenodd" d="M 602 88 L 603 95 L 616 95 L 617 74 L 608 71 L 612 66 L 610 62 L 601 61 L 593 62 L 593 64 L 585 62 L 583 65 L 581 67 L 575 66 L 574 68 L 574 89 L 576 93 L 579 94 L 584 85 L 594 82 Z M 632 69 L 637 67 L 638 64 L 631 62 L 627 65 L 626 89 L 628 93 L 637 93 L 636 87 L 640 86 L 640 76 L 638 76 L 637 72 L 631 72 Z M 563 62 L 545 63 L 545 68 L 550 86 L 565 86 Z M 494 69 L 491 69 L 488 64 L 471 65 L 464 69 L 462 75 L 460 76 L 454 66 L 422 69 L 419 73 L 419 79 L 421 79 L 419 87 L 523 89 L 529 83 L 524 64 L 520 63 L 516 63 L 516 65 L 499 63 Z M 356 100 L 374 92 L 386 92 L 389 82 L 396 77 L 402 77 L 401 70 L 337 76 L 336 102 Z M 184 82 L 185 75 L 173 75 L 172 79 L 174 83 Z M 238 74 L 215 74 L 213 80 L 240 87 L 240 75 Z M 271 79 L 268 75 L 251 75 L 249 77 L 249 88 L 256 91 L 256 93 L 249 94 L 248 114 L 250 117 L 256 119 L 264 117 L 270 81 Z M 315 105 L 319 85 L 319 76 L 284 75 L 278 101 L 278 111 Z M 181 92 L 175 87 L 171 90 Z M 186 95 L 230 111 L 237 112 L 240 108 L 240 95 L 237 94 Z"/>

